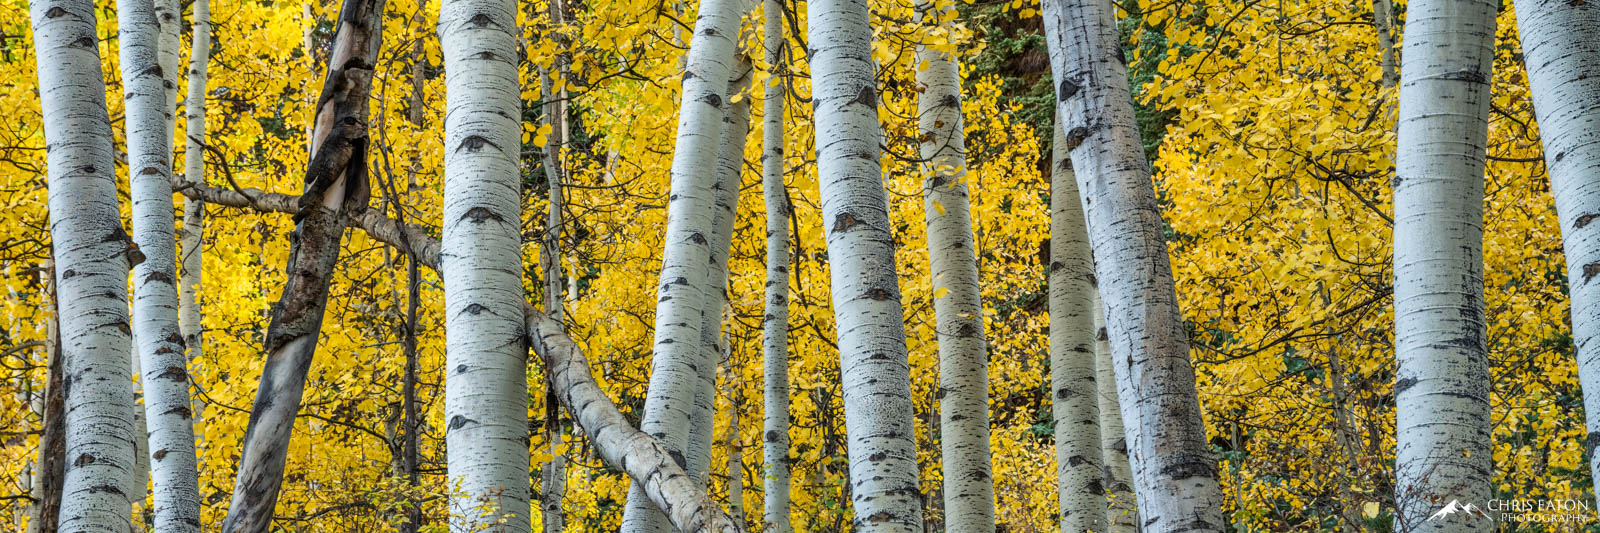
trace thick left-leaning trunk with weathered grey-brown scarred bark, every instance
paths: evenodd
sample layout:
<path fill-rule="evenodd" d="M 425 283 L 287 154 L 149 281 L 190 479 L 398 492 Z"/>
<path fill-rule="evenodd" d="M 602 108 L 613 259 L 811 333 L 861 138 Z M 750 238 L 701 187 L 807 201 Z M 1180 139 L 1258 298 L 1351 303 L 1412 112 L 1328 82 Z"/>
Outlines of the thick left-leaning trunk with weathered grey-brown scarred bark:
<path fill-rule="evenodd" d="M 1109 0 L 1043 0 L 1058 118 L 1106 307 L 1144 531 L 1222 531 L 1216 458 Z M 1138 439 L 1133 439 L 1138 437 Z"/>

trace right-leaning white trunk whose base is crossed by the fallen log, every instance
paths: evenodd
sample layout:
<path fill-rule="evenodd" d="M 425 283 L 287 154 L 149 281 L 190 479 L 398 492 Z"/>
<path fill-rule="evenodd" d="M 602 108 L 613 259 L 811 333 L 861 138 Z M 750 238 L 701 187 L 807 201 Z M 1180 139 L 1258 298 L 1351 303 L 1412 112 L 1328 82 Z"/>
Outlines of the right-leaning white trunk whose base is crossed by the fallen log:
<path fill-rule="evenodd" d="M 717 205 L 717 155 L 725 130 L 728 80 L 733 70 L 739 0 L 704 0 L 694 21 L 678 107 L 678 138 L 672 154 L 672 195 L 667 203 L 666 250 L 656 291 L 654 351 L 640 429 L 667 450 L 686 455 L 699 394 L 701 370 L 717 360 L 701 343 L 706 291 L 712 264 L 712 226 Z M 693 464 L 688 463 L 686 464 Z M 693 467 L 690 469 L 693 471 Z M 666 531 L 661 509 L 634 483 L 622 512 L 622 531 Z"/>

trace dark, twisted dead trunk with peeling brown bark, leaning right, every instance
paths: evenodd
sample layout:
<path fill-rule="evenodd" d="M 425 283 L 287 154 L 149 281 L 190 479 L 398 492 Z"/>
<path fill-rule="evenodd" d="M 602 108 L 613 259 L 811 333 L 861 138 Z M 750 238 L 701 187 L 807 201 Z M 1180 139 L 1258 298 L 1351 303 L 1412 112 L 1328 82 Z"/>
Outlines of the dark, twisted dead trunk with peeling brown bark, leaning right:
<path fill-rule="evenodd" d="M 317 102 L 306 192 L 294 214 L 288 280 L 267 325 L 267 360 L 222 531 L 259 533 L 272 525 L 339 240 L 350 218 L 366 210 L 366 102 L 382 38 L 382 0 L 344 0 L 339 8 L 328 77 Z"/>

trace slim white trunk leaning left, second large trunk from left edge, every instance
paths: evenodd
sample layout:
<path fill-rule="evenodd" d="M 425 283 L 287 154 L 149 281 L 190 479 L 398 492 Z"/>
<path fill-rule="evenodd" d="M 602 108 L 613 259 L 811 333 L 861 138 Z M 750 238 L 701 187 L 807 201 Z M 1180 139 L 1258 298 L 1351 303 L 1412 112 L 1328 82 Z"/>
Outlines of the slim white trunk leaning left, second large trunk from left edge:
<path fill-rule="evenodd" d="M 165 2 L 165 0 L 163 0 Z M 150 0 L 118 0 L 117 26 L 128 139 L 133 242 L 133 333 L 142 370 L 149 479 L 157 531 L 200 531 L 200 479 L 189 407 L 189 362 L 178 328 L 178 251 L 173 235 L 171 110 L 160 66 L 163 27 Z M 176 54 L 173 54 L 176 58 Z M 144 490 L 144 472 L 136 490 Z"/>

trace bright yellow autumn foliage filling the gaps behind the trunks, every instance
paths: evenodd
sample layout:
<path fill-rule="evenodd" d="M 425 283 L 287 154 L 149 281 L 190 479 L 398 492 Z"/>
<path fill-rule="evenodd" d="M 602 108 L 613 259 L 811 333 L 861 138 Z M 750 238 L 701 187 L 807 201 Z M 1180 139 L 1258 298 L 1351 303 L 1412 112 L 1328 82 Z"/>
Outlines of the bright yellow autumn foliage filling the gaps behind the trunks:
<path fill-rule="evenodd" d="M 46 378 L 50 232 L 45 141 L 35 58 L 21 0 L 0 0 L 0 512 L 24 525 Z M 115 10 L 101 2 L 101 58 L 112 120 L 122 93 Z M 1120 30 L 1146 155 L 1168 222 L 1168 248 L 1195 362 L 1200 400 L 1222 459 L 1224 511 L 1238 530 L 1384 528 L 1394 495 L 1394 343 L 1389 179 L 1397 93 L 1381 32 L 1392 18 L 1365 2 L 1123 2 Z M 338 3 L 226 2 L 211 8 L 206 85 L 213 184 L 298 192 L 310 112 Z M 523 3 L 523 261 L 528 295 L 542 295 L 546 224 L 544 125 L 549 94 L 570 94 L 560 141 L 566 173 L 560 238 L 568 327 L 605 391 L 637 424 L 648 384 L 654 272 L 666 219 L 667 168 L 683 21 L 694 5 L 589 0 L 554 24 L 542 2 Z M 990 347 L 997 520 L 1048 531 L 1056 519 L 1046 271 L 1053 83 L 1037 5 L 957 3 L 952 30 L 930 29 L 906 2 L 872 2 L 878 62 L 882 168 L 890 190 L 917 405 L 926 511 L 938 520 L 938 355 L 934 293 L 923 235 L 917 162 L 915 46 L 963 64 L 968 182 Z M 374 210 L 403 213 L 437 235 L 442 218 L 443 75 L 437 5 L 387 2 L 374 74 Z M 850 523 L 843 410 L 829 264 L 819 216 L 808 98 L 806 18 L 787 5 L 790 53 L 774 69 L 760 53 L 762 18 L 747 13 L 741 50 L 760 98 L 786 85 L 786 186 L 792 213 L 790 437 L 792 520 L 803 530 Z M 184 18 L 187 19 L 187 13 Z M 1493 373 L 1498 498 L 1594 499 L 1584 466 L 1582 400 L 1573 362 L 1562 240 L 1526 93 L 1512 10 L 1499 16 L 1488 170 L 1485 301 Z M 558 38 L 552 38 L 558 37 Z M 1398 38 L 1403 38 L 1400 35 Z M 182 27 L 189 56 L 190 29 Z M 541 86 L 539 72 L 570 58 L 570 75 Z M 179 77 L 179 83 L 187 83 Z M 179 94 L 187 88 L 179 86 Z M 179 110 L 182 112 L 182 110 Z M 760 115 L 762 106 L 752 106 Z M 413 117 L 418 117 L 413 120 Z M 186 136 L 178 125 L 179 139 Z M 122 146 L 123 128 L 114 128 Z M 758 139 L 762 122 L 752 123 Z M 182 152 L 182 142 L 179 142 Z M 181 154 L 179 157 L 184 157 Z M 730 261 L 728 362 L 717 387 L 712 493 L 738 485 L 734 511 L 762 509 L 760 325 L 765 205 L 760 144 L 746 170 Z M 118 168 L 126 176 L 125 168 Z M 219 179 L 226 176 L 224 179 Z M 126 182 L 123 181 L 123 187 Z M 376 190 L 376 189 L 374 189 Z M 126 194 L 126 190 L 123 190 Z M 181 198 L 179 198 L 181 203 Z M 126 202 L 123 202 L 126 208 Z M 283 287 L 288 216 L 210 205 L 200 291 L 205 344 L 192 392 L 205 403 L 200 439 L 203 522 L 218 523 L 234 482 L 238 442 L 261 367 L 269 307 Z M 126 214 L 125 214 L 126 216 Z M 398 503 L 424 503 L 443 528 L 443 291 L 419 285 L 419 387 L 426 423 L 419 472 L 397 472 L 405 254 L 360 230 L 344 238 L 322 357 L 312 368 L 278 501 L 291 530 L 373 531 L 403 520 Z M 530 360 L 530 383 L 542 381 Z M 530 387 L 530 427 L 547 418 Z M 627 480 L 566 427 L 552 445 L 531 431 L 533 464 L 568 459 L 568 527 L 616 530 Z M 730 461 L 733 458 L 733 461 Z M 534 472 L 536 475 L 538 472 Z M 730 483 L 738 479 L 739 483 Z M 534 487 L 538 480 L 534 479 Z M 542 499 L 534 495 L 534 499 Z M 538 507 L 533 512 L 539 512 Z"/>

